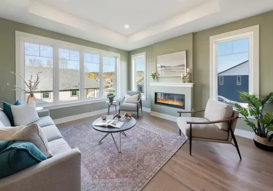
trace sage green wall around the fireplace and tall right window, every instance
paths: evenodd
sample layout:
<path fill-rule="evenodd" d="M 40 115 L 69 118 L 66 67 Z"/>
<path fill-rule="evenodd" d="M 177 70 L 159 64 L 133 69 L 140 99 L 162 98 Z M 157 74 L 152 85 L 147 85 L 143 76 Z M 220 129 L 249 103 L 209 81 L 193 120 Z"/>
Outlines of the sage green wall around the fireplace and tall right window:
<path fill-rule="evenodd" d="M 187 50 L 187 67 L 193 70 L 194 84 L 194 109 L 204 109 L 209 98 L 209 37 L 245 27 L 260 25 L 260 97 L 273 92 L 273 11 L 200 31 L 187 34 L 152 46 L 139 48 L 129 52 L 132 54 L 149 50 L 146 58 L 147 85 L 151 82 L 150 73 L 155 71 L 155 57 L 173 51 Z M 130 62 L 131 63 L 131 60 Z M 172 82 L 180 82 L 179 77 L 171 78 Z M 158 82 L 168 82 L 170 79 L 159 78 Z M 147 87 L 147 90 L 149 88 Z M 148 93 L 149 95 L 149 93 Z M 149 98 L 149 96 L 148 96 Z M 150 100 L 147 99 L 145 107 L 150 108 Z M 144 104 L 143 104 L 144 106 Z M 267 110 L 272 112 L 273 106 L 269 105 Z M 158 111 L 157 111 L 158 112 Z M 162 113 L 168 114 L 164 111 Z M 202 114 L 196 115 L 197 117 Z M 237 128 L 252 131 L 240 119 Z"/>

